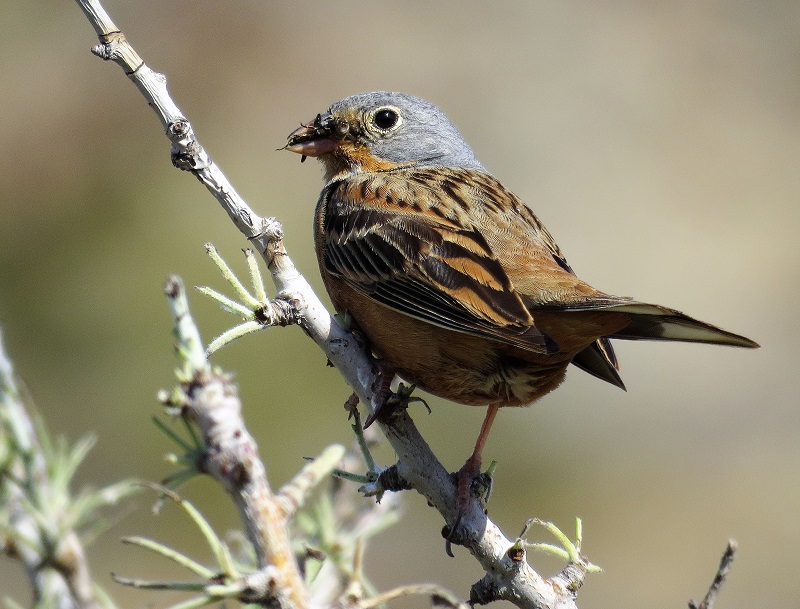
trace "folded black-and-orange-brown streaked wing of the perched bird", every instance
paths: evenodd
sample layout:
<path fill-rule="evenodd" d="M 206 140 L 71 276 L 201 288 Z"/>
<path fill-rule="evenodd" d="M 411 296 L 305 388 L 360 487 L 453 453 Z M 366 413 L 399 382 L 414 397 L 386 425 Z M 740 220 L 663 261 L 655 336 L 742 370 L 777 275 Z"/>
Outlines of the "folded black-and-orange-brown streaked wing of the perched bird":
<path fill-rule="evenodd" d="M 404 169 L 332 182 L 317 209 L 320 264 L 412 317 L 537 353 L 557 352 L 473 220 L 488 195 L 453 171 Z"/>

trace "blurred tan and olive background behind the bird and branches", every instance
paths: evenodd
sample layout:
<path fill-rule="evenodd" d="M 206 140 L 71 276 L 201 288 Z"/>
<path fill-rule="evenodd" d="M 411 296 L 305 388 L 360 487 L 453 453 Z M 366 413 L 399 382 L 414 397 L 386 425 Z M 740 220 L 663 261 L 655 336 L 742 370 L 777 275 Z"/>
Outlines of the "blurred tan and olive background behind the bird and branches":
<path fill-rule="evenodd" d="M 238 190 L 284 222 L 316 287 L 321 171 L 275 149 L 337 99 L 401 90 L 446 111 L 583 278 L 758 340 L 756 352 L 618 343 L 627 393 L 575 369 L 534 408 L 501 412 L 485 452 L 500 462 L 490 513 L 510 535 L 532 515 L 565 530 L 583 517 L 584 549 L 606 572 L 589 579 L 581 607 L 685 607 L 705 592 L 729 537 L 741 552 L 719 609 L 800 606 L 800 4 L 106 8 L 168 76 Z M 80 484 L 159 479 L 171 447 L 150 418 L 174 366 L 163 281 L 178 273 L 223 287 L 203 243 L 242 271 L 245 244 L 203 188 L 171 167 L 132 83 L 89 53 L 96 38 L 76 4 L 4 1 L 2 15 L 6 347 L 52 429 L 72 441 L 97 435 Z M 192 303 L 206 338 L 231 324 L 199 294 Z M 347 388 L 297 328 L 249 337 L 216 361 L 237 374 L 276 486 L 303 456 L 349 442 Z M 415 420 L 456 469 L 483 412 L 430 404 L 433 414 L 415 407 Z M 237 526 L 211 484 L 184 490 L 220 529 Z M 110 571 L 175 571 L 119 537 L 198 543 L 177 510 L 154 517 L 151 500 L 139 498 L 91 546 L 97 579 L 125 607 L 177 597 L 121 590 Z M 448 559 L 438 515 L 419 496 L 404 500 L 405 520 L 369 548 L 368 574 L 383 589 L 434 579 L 466 596 L 477 564 L 464 551 Z M 24 602 L 23 581 L 16 563 L 0 560 L 0 592 Z"/>

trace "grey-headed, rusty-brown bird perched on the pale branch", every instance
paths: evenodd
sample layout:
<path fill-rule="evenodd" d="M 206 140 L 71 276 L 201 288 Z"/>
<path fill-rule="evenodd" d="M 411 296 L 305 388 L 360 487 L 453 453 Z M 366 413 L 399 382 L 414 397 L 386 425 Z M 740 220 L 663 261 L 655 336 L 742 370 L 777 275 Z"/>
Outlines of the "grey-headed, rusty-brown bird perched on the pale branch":
<path fill-rule="evenodd" d="M 382 377 L 487 407 L 458 472 L 451 531 L 499 408 L 550 393 L 570 364 L 625 389 L 611 339 L 759 346 L 579 279 L 531 209 L 418 97 L 347 97 L 301 123 L 284 148 L 322 162 L 314 243 L 323 283 Z"/>

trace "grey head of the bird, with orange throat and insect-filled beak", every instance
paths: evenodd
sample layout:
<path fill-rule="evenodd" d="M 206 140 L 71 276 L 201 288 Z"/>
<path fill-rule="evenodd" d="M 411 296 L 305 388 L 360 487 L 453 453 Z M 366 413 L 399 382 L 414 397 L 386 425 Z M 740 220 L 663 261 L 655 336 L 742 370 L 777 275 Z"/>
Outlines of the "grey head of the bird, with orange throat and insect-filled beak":
<path fill-rule="evenodd" d="M 387 91 L 336 102 L 294 131 L 286 149 L 319 157 L 328 177 L 398 166 L 485 171 L 444 112 L 418 97 Z"/>

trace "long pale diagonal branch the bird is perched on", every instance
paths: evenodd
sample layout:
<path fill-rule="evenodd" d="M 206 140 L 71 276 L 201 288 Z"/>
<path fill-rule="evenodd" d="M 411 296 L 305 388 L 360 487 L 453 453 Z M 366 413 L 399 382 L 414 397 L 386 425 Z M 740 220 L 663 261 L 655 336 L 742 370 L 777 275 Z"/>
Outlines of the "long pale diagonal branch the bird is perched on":
<path fill-rule="evenodd" d="M 297 271 L 284 248 L 281 225 L 274 219 L 257 216 L 236 193 L 197 141 L 189 121 L 169 97 L 165 77 L 144 64 L 108 19 L 99 2 L 76 1 L 100 37 L 101 44 L 93 52 L 118 63 L 156 111 L 172 142 L 175 166 L 192 172 L 222 204 L 237 228 L 264 257 L 277 290 L 277 299 L 295 309 L 294 319 L 336 366 L 361 402 L 375 412 L 385 396 L 376 391 L 379 384 L 369 354 L 336 323 Z M 213 390 L 209 388 L 208 395 L 202 398 L 220 402 L 232 400 L 231 396 L 225 395 L 224 383 L 218 382 L 221 384 Z M 196 397 L 201 398 L 199 394 Z M 430 450 L 411 418 L 405 411 L 400 411 L 379 419 L 378 424 L 398 455 L 397 474 L 424 495 L 452 526 L 456 502 L 454 480 Z M 463 535 L 451 540 L 469 549 L 487 573 L 484 580 L 491 584 L 477 602 L 507 598 L 520 607 L 574 607 L 574 593 L 562 579 L 546 580 L 525 560 L 518 560 L 518 555 L 514 559 L 507 555 L 512 542 L 487 518 L 477 497 L 465 511 L 459 531 L 463 531 Z M 490 588 L 492 592 L 489 592 Z"/>

